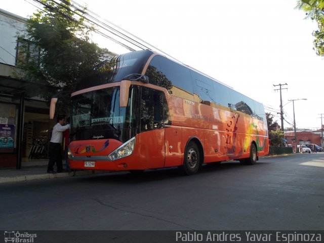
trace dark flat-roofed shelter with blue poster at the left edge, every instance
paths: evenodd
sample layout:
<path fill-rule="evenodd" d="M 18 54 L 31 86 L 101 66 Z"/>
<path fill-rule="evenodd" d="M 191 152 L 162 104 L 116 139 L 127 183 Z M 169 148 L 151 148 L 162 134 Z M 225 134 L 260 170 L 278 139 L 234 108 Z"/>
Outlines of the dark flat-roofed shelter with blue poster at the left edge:
<path fill-rule="evenodd" d="M 25 101 L 41 91 L 54 88 L 0 75 L 0 167 L 21 169 Z"/>

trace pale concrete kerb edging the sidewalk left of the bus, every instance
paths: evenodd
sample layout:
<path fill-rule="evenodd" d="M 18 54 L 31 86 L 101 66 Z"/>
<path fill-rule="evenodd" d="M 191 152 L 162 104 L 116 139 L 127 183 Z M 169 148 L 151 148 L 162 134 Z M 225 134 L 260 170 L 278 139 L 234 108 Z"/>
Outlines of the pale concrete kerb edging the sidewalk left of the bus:
<path fill-rule="evenodd" d="M 44 179 L 53 179 L 53 178 L 65 178 L 72 176 L 89 176 L 94 173 L 93 171 L 76 171 L 76 172 L 65 172 L 65 173 L 57 173 L 57 174 L 38 174 L 38 175 L 24 175 L 24 176 L 9 176 L 9 177 L 1 177 L 1 183 L 10 183 L 10 182 L 20 182 L 20 181 L 32 181 L 32 180 L 44 180 Z"/>

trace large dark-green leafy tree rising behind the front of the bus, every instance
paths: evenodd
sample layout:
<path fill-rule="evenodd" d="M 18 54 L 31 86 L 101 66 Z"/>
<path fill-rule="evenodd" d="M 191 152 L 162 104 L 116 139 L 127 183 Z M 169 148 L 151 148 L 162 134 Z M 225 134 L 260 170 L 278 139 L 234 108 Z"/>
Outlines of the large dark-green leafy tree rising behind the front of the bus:
<path fill-rule="evenodd" d="M 108 50 L 90 40 L 94 27 L 85 18 L 86 8 L 77 10 L 70 0 L 39 1 L 44 10 L 27 19 L 26 33 L 18 35 L 19 39 L 28 40 L 19 47 L 28 50 L 20 64 L 25 70 L 20 78 L 71 92 L 105 59 Z M 27 45 L 33 49 L 26 48 Z M 35 91 L 35 94 L 49 101 L 53 92 Z M 68 100 L 68 97 L 63 99 L 63 106 L 69 107 Z"/>

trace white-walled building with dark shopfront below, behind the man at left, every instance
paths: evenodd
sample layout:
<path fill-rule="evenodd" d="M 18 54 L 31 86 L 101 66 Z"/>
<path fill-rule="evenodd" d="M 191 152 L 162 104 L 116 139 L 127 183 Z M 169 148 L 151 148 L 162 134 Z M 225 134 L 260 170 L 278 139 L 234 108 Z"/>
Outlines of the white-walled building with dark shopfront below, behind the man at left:
<path fill-rule="evenodd" d="M 25 57 L 23 40 L 26 19 L 0 9 L 0 168 L 21 169 L 31 159 L 46 159 L 51 129 L 49 105 L 30 91 L 51 87 L 16 78 L 19 62 Z M 110 55 L 110 56 L 109 56 Z M 116 56 L 110 53 L 107 58 Z"/>

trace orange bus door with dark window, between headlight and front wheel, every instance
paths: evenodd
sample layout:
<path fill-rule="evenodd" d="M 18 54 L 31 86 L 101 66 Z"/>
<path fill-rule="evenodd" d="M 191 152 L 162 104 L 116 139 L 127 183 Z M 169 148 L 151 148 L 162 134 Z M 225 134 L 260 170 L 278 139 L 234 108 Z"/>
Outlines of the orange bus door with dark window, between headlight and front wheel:
<path fill-rule="evenodd" d="M 140 157 L 143 167 L 165 166 L 165 124 L 163 92 L 141 87 Z"/>

